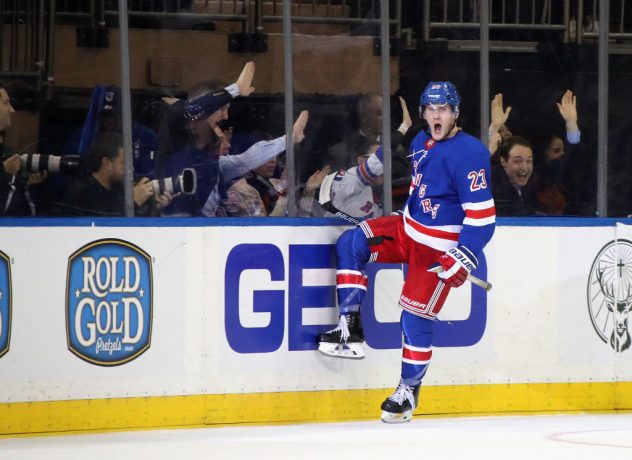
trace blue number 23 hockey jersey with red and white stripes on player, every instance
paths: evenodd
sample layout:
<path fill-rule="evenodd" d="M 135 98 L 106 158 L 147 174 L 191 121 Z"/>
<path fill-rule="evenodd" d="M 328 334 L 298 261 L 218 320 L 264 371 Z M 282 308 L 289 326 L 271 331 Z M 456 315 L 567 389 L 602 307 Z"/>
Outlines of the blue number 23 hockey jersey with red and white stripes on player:
<path fill-rule="evenodd" d="M 462 131 L 439 142 L 422 131 L 410 154 L 411 192 L 403 215 L 408 236 L 438 250 L 459 244 L 479 254 L 496 226 L 489 150 Z"/>

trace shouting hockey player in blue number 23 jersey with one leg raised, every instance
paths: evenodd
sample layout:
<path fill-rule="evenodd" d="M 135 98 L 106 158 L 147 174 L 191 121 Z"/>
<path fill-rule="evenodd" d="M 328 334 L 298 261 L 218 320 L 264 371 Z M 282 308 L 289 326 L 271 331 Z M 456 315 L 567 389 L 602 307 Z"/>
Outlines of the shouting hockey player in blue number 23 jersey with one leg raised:
<path fill-rule="evenodd" d="M 401 378 L 382 403 L 386 423 L 411 420 L 432 358 L 434 320 L 450 289 L 461 286 L 478 265 L 495 228 L 489 151 L 457 127 L 459 102 L 450 82 L 426 86 L 419 111 L 428 128 L 410 146 L 413 180 L 403 214 L 366 220 L 336 243 L 340 319 L 319 337 L 319 350 L 331 356 L 364 357 L 359 308 L 367 289 L 366 264 L 408 264 L 399 300 Z M 380 148 L 366 163 L 369 174 L 381 174 L 381 160 Z M 437 263 L 443 271 L 428 271 Z"/>

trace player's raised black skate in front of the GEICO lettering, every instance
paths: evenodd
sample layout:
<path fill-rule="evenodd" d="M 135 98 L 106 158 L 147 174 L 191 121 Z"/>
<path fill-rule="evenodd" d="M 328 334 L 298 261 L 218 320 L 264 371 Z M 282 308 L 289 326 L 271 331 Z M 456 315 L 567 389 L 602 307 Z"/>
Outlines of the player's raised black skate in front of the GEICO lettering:
<path fill-rule="evenodd" d="M 360 322 L 360 313 L 351 312 L 340 315 L 340 321 L 331 331 L 318 336 L 318 351 L 336 358 L 362 359 L 364 350 L 364 332 Z"/>

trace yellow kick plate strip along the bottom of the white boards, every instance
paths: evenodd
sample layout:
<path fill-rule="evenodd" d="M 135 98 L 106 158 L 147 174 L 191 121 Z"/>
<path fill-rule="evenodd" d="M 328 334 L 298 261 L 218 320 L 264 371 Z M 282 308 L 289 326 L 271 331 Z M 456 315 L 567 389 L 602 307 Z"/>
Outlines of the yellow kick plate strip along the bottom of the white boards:
<path fill-rule="evenodd" d="M 392 389 L 152 396 L 0 404 L 0 435 L 374 419 Z M 632 382 L 422 387 L 416 415 L 632 409 Z"/>

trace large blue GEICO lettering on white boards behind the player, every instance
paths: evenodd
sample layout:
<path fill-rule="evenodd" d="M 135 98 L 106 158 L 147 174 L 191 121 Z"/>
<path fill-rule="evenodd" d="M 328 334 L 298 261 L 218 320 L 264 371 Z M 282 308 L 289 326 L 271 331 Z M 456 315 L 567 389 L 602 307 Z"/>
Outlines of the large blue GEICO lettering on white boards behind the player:
<path fill-rule="evenodd" d="M 486 277 L 486 261 L 482 256 L 475 271 Z M 272 353 L 284 344 L 287 350 L 316 350 L 317 335 L 333 324 L 306 324 L 306 310 L 331 308 L 335 301 L 335 244 L 241 243 L 233 246 L 226 257 L 224 278 L 226 339 L 237 353 Z M 398 321 L 384 322 L 376 311 L 376 276 L 381 270 L 402 269 L 402 265 L 368 264 L 369 290 L 361 306 L 366 345 L 373 349 L 400 349 L 401 330 Z M 306 283 L 304 274 L 326 270 L 321 285 Z M 249 272 L 258 278 L 245 276 Z M 405 274 L 404 274 L 405 275 Z M 244 286 L 245 280 L 249 284 Z M 253 283 L 254 281 L 256 283 Z M 283 286 L 265 288 L 269 285 Z M 257 287 L 252 287 L 257 286 Z M 401 286 L 396 286 L 399 290 Z M 469 314 L 461 320 L 435 324 L 435 347 L 467 347 L 478 343 L 487 321 L 486 292 L 473 285 Z M 248 305 L 247 311 L 244 305 Z M 245 324 L 247 316 L 264 316 L 258 326 Z"/>

